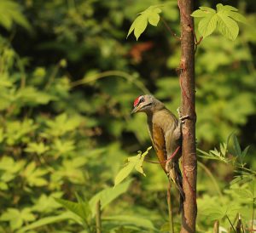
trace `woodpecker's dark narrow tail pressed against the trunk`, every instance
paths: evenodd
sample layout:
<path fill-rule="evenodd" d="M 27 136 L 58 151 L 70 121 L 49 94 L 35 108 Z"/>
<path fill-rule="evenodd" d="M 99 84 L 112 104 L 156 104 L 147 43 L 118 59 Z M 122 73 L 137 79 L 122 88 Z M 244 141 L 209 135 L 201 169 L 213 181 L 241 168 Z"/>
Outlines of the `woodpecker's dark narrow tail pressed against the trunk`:
<path fill-rule="evenodd" d="M 183 175 L 180 171 L 178 161 L 173 162 L 173 168 L 169 173 L 170 178 L 172 179 L 173 183 L 177 186 L 179 191 L 179 210 L 178 212 L 181 213 L 183 211 L 183 202 L 185 201 L 185 194 L 183 191 Z"/>

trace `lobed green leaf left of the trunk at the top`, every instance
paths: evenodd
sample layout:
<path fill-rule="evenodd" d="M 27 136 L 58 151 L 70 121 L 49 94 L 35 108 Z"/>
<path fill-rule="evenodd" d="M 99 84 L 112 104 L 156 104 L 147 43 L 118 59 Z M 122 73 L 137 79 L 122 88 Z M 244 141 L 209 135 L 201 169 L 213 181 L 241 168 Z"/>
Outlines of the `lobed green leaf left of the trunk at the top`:
<path fill-rule="evenodd" d="M 152 26 L 157 26 L 160 20 L 160 12 L 161 9 L 158 8 L 158 6 L 150 6 L 148 9 L 141 12 L 140 15 L 137 16 L 136 20 L 134 20 L 132 23 L 127 37 L 130 36 L 132 31 L 134 31 L 134 35 L 136 39 L 138 39 L 148 26 L 148 22 Z"/>

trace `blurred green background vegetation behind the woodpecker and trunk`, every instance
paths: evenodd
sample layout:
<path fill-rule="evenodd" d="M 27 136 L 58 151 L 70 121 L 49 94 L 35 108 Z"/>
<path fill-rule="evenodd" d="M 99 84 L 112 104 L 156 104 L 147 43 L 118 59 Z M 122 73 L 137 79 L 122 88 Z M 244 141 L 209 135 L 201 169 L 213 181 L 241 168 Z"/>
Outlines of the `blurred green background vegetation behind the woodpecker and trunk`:
<path fill-rule="evenodd" d="M 242 149 L 251 145 L 245 160 L 255 170 L 256 3 L 223 2 L 248 24 L 240 25 L 235 42 L 214 32 L 197 49 L 197 146 L 209 151 L 235 133 Z M 174 112 L 180 104 L 180 43 L 163 22 L 148 26 L 138 42 L 125 39 L 137 13 L 156 3 L 0 1 L 1 232 L 27 226 L 30 232 L 95 232 L 94 213 L 84 213 L 83 225 L 54 198 L 76 202 L 77 193 L 93 209 L 91 198 L 106 189 L 103 232 L 166 230 L 167 179 L 160 166 L 145 163 L 147 177 L 134 174 L 119 190 L 109 189 L 127 156 L 151 145 L 146 117 L 130 115 L 133 99 L 150 91 Z M 179 35 L 177 2 L 165 3 L 161 16 Z M 200 1 L 196 8 L 202 5 L 216 3 Z M 155 160 L 153 150 L 149 157 Z M 248 226 L 255 182 L 230 187 L 230 163 L 199 160 L 208 170 L 198 169 L 198 232 L 211 232 L 222 213 L 234 220 L 239 212 Z M 227 228 L 227 219 L 221 225 Z"/>

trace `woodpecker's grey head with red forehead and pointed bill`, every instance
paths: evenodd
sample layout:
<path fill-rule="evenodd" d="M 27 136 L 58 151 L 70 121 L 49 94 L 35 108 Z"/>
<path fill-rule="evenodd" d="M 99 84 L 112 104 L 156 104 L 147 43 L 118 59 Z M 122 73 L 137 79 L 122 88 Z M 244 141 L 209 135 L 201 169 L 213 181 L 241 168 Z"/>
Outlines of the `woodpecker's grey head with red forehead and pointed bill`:
<path fill-rule="evenodd" d="M 133 107 L 134 108 L 131 111 L 131 114 L 137 112 L 154 112 L 160 108 L 163 108 L 164 105 L 160 102 L 160 100 L 155 99 L 153 95 L 145 94 L 140 95 L 134 100 Z"/>

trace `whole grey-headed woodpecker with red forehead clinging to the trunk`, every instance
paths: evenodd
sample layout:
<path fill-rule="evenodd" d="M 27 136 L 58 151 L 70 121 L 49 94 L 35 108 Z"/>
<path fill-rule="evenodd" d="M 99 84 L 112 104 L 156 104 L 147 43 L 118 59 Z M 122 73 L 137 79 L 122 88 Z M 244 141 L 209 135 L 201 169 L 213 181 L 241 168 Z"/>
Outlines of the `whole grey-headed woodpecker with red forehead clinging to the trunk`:
<path fill-rule="evenodd" d="M 172 111 L 166 109 L 160 100 L 150 94 L 137 97 L 133 106 L 131 114 L 137 112 L 147 114 L 149 135 L 154 145 L 154 151 L 168 178 L 177 185 L 180 194 L 180 210 L 182 210 L 185 196 L 182 173 L 178 164 L 178 159 L 181 156 L 181 121 L 177 120 Z M 175 152 L 177 153 L 175 154 Z M 170 158 L 171 156 L 173 157 Z"/>

